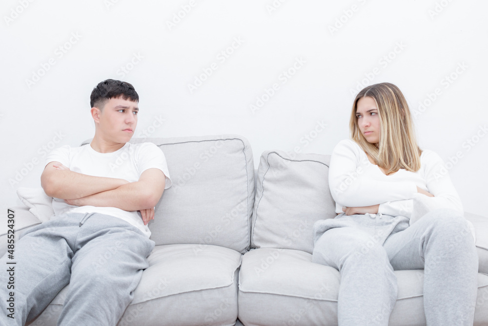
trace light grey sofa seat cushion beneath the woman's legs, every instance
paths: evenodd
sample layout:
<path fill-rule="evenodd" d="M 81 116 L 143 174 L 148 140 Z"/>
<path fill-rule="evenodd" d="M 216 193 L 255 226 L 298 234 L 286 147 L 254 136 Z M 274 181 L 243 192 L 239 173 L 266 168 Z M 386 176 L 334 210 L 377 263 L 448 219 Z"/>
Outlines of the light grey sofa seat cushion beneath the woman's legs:
<path fill-rule="evenodd" d="M 398 298 L 389 325 L 425 325 L 424 270 L 395 271 Z M 239 320 L 244 325 L 337 325 L 340 274 L 312 263 L 312 255 L 261 248 L 243 256 Z M 478 274 L 475 324 L 488 322 L 488 276 Z M 485 324 L 483 324 L 485 323 Z"/>

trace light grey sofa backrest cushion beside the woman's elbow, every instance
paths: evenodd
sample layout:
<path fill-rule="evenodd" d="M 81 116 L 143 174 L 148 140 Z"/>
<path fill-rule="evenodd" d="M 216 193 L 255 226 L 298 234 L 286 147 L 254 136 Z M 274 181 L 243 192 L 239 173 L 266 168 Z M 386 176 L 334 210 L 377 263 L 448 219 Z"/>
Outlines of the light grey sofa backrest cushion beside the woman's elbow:
<path fill-rule="evenodd" d="M 251 247 L 313 251 L 313 224 L 335 217 L 330 155 L 266 151 L 259 163 Z"/>

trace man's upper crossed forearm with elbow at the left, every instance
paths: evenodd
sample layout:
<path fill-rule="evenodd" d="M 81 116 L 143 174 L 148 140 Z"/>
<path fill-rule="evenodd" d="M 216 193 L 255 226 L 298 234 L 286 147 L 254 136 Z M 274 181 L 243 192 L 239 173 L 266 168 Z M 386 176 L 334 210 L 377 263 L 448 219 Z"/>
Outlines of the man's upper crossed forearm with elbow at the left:
<path fill-rule="evenodd" d="M 46 167 L 48 168 L 50 169 Z M 86 175 L 70 170 L 54 170 L 42 175 L 41 186 L 48 196 L 61 199 L 78 199 L 117 189 L 128 183 L 123 179 Z"/>

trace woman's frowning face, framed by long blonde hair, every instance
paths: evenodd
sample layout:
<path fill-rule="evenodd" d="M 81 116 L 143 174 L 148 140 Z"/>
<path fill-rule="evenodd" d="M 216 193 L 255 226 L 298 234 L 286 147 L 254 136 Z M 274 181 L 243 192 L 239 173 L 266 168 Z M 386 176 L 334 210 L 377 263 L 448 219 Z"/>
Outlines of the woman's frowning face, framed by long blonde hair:
<path fill-rule="evenodd" d="M 372 97 L 362 97 L 356 106 L 359 130 L 368 143 L 378 144 L 381 137 L 380 116 Z"/>

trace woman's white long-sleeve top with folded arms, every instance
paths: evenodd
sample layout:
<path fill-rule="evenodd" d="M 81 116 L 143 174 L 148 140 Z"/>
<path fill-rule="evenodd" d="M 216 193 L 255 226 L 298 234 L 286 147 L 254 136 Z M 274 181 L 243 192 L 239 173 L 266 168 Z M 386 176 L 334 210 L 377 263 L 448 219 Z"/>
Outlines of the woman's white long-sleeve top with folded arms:
<path fill-rule="evenodd" d="M 424 150 L 420 159 L 421 168 L 417 172 L 400 169 L 386 175 L 368 160 L 357 143 L 342 140 L 332 152 L 328 177 L 336 213 L 343 213 L 343 207 L 380 204 L 378 213 L 410 218 L 415 196 L 423 196 L 422 201 L 429 207 L 463 213 L 461 199 L 442 158 L 435 152 Z M 417 186 L 434 197 L 418 194 Z"/>

